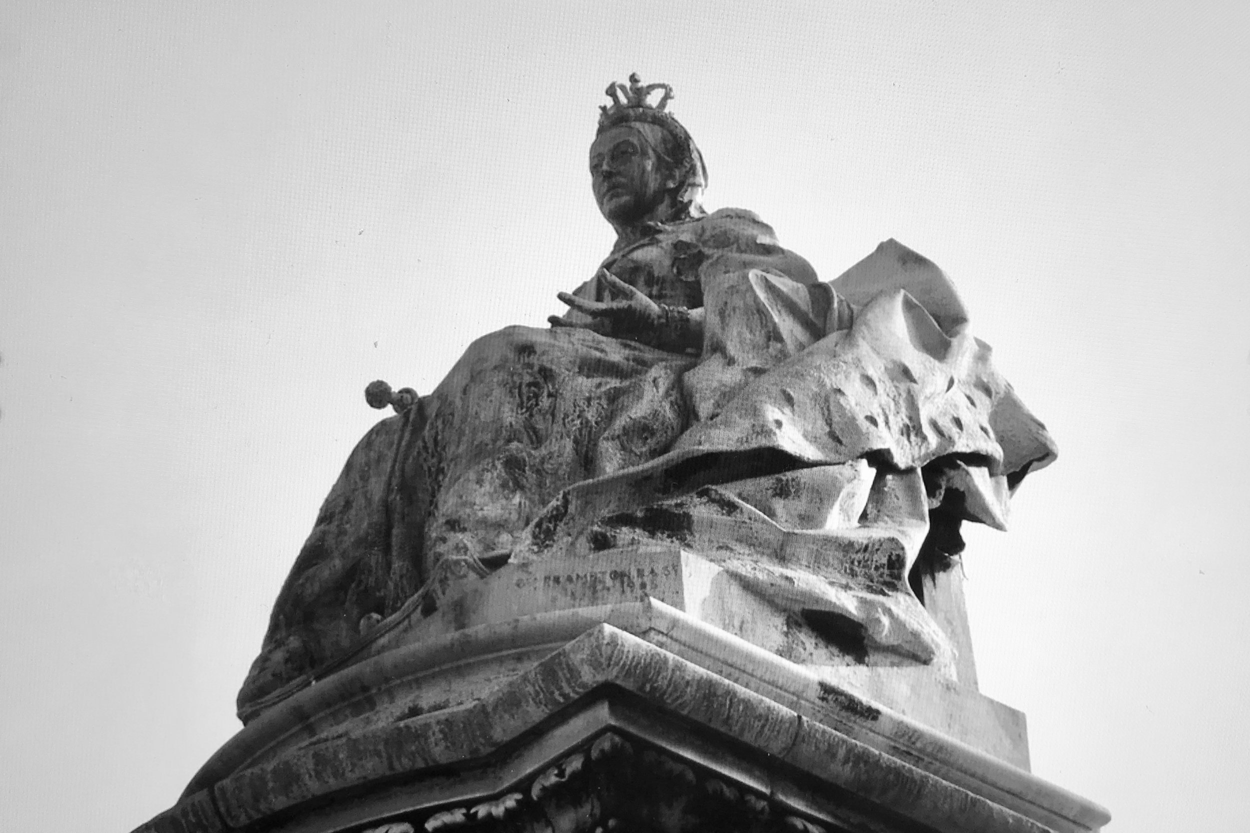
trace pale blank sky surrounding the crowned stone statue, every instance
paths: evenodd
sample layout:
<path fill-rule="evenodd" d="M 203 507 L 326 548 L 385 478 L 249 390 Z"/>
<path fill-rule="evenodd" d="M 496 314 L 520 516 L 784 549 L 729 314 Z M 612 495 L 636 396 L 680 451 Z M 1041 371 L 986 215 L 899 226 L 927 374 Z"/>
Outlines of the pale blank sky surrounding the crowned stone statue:
<path fill-rule="evenodd" d="M 638 70 L 826 279 L 936 260 L 1060 444 L 969 535 L 982 689 L 1111 830 L 1250 825 L 1244 3 L 10 3 L 0 828 L 126 830 L 234 695 L 376 378 L 611 244 Z"/>

